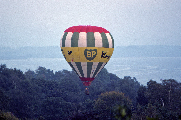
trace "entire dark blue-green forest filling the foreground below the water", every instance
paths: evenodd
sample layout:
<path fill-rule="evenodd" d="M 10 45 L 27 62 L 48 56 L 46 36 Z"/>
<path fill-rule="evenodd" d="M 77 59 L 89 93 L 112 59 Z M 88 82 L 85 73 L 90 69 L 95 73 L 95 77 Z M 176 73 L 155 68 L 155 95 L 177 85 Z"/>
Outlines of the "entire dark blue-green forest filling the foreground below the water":
<path fill-rule="evenodd" d="M 103 69 L 89 86 L 73 71 L 53 72 L 45 67 L 23 73 L 0 66 L 1 119 L 159 119 L 181 115 L 181 83 L 150 80 L 140 85 L 136 78 L 119 78 Z M 8 111 L 8 112 L 7 112 Z M 14 117 L 14 115 L 16 117 Z"/>

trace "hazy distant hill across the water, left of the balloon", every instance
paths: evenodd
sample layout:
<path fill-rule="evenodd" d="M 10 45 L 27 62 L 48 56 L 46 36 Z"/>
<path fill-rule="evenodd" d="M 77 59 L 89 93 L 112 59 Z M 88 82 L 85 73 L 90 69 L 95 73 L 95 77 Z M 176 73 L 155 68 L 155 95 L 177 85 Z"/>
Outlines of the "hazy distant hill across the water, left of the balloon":
<path fill-rule="evenodd" d="M 47 47 L 0 47 L 0 59 L 27 59 L 27 58 L 60 58 L 61 48 L 58 46 Z"/>

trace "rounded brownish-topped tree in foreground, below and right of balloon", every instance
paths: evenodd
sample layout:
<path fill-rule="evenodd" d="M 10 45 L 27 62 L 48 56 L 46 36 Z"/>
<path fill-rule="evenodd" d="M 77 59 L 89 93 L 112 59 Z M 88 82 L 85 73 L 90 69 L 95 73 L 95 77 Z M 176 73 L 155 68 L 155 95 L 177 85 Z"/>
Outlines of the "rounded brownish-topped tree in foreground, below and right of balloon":
<path fill-rule="evenodd" d="M 117 106 L 132 107 L 131 101 L 124 96 L 124 93 L 115 91 L 102 93 L 95 101 L 94 108 L 99 114 L 100 119 L 115 119 L 115 109 Z M 127 113 L 126 113 L 127 114 Z"/>

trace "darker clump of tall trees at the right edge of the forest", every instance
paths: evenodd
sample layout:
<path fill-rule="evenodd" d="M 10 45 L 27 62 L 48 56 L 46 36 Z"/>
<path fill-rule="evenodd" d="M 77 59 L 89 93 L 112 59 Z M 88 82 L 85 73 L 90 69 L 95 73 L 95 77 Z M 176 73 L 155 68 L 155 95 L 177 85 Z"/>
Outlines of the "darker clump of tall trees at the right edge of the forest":
<path fill-rule="evenodd" d="M 150 80 L 147 87 L 141 86 L 137 96 L 137 117 L 134 119 L 176 120 L 181 114 L 181 83 L 173 79 L 162 83 Z"/>

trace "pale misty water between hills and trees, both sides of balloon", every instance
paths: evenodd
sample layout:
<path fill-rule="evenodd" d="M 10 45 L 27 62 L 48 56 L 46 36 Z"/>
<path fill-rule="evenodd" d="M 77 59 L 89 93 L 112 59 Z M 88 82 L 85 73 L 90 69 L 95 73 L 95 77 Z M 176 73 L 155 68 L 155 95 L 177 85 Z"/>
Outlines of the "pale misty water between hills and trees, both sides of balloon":
<path fill-rule="evenodd" d="M 181 57 L 123 57 L 111 58 L 105 68 L 118 77 L 135 77 L 141 84 L 149 80 L 161 82 L 161 79 L 175 79 L 181 82 Z M 29 58 L 0 60 L 8 68 L 17 68 L 23 72 L 36 70 L 39 66 L 55 71 L 69 70 L 71 67 L 64 58 Z"/>

